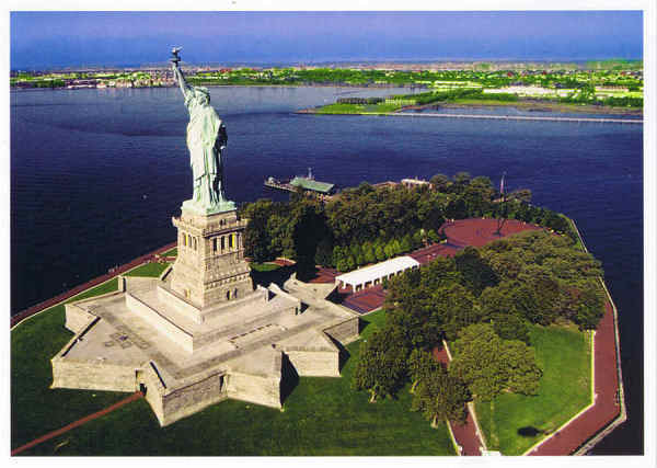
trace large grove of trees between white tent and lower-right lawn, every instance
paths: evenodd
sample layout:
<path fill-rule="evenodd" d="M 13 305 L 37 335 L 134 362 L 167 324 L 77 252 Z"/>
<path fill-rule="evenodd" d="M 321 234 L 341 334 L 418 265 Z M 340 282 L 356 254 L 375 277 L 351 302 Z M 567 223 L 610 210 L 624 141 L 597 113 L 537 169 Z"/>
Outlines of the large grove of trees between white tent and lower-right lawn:
<path fill-rule="evenodd" d="M 413 409 L 462 420 L 472 398 L 537 395 L 542 372 L 530 324 L 595 329 L 604 306 L 600 264 L 564 236 L 529 231 L 438 258 L 389 283 L 385 324 L 361 344 L 356 389 L 370 401 L 411 384 Z M 449 368 L 430 352 L 452 342 Z"/>

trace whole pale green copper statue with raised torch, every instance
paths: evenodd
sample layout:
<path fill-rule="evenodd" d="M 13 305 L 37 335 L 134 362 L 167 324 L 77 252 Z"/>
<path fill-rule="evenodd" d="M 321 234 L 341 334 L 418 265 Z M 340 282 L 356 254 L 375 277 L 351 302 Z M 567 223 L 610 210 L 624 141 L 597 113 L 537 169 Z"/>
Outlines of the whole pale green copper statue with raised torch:
<path fill-rule="evenodd" d="M 207 88 L 193 87 L 185 81 L 178 66 L 180 47 L 172 50 L 173 75 L 185 98 L 185 106 L 189 111 L 187 124 L 187 148 L 194 179 L 192 199 L 183 203 L 200 214 L 212 214 L 234 209 L 223 194 L 223 161 L 221 152 L 226 148 L 228 136 L 226 126 L 210 105 L 210 93 Z"/>

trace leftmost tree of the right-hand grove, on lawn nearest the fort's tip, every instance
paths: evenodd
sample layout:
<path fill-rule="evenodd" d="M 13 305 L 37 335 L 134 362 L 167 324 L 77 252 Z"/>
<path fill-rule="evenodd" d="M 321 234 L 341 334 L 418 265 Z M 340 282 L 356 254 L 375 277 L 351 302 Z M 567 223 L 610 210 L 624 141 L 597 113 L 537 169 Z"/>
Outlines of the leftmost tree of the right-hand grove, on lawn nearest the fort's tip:
<path fill-rule="evenodd" d="M 385 327 L 360 344 L 360 357 L 351 385 L 370 392 L 370 403 L 378 397 L 393 396 L 403 384 L 408 350 L 400 331 Z"/>

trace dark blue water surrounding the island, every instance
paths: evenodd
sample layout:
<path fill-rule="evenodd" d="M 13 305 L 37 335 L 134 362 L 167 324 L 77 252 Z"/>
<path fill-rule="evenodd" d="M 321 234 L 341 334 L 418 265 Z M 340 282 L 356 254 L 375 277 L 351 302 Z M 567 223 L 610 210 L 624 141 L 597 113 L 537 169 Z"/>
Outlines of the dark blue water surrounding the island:
<path fill-rule="evenodd" d="M 293 114 L 401 91 L 212 89 L 227 194 L 284 199 L 264 180 L 309 167 L 342 187 L 459 171 L 497 183 L 506 171 L 510 190 L 575 218 L 603 263 L 630 420 L 596 453 L 642 453 L 643 126 Z M 191 195 L 186 123 L 177 89 L 11 93 L 12 313 L 174 240 L 171 217 Z"/>

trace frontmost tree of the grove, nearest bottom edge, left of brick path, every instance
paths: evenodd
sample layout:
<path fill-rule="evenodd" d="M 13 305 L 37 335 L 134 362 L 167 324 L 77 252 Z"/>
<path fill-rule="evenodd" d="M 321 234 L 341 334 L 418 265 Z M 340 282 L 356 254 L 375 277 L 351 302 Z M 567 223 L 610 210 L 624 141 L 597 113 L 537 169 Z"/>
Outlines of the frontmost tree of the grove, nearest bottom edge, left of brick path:
<path fill-rule="evenodd" d="M 468 386 L 438 366 L 419 381 L 411 409 L 422 411 L 425 418 L 431 421 L 431 427 L 437 427 L 438 421 L 445 419 L 465 422 L 465 403 L 471 399 Z"/>

